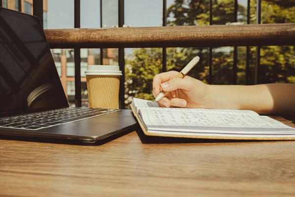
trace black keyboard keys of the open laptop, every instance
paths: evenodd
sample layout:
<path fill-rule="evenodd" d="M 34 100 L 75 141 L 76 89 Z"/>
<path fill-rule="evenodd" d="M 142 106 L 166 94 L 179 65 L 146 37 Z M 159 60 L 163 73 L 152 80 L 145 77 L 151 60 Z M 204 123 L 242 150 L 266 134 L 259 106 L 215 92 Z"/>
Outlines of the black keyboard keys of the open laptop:
<path fill-rule="evenodd" d="M 62 108 L 0 118 L 0 128 L 40 130 L 118 111 L 116 109 Z"/>

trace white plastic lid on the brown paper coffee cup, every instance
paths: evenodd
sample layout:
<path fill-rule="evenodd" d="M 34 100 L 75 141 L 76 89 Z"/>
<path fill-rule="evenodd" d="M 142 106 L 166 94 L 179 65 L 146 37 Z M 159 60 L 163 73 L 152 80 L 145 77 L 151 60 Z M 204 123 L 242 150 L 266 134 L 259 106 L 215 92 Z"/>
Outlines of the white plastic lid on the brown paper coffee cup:
<path fill-rule="evenodd" d="M 88 65 L 85 75 L 122 75 L 119 66 Z"/>

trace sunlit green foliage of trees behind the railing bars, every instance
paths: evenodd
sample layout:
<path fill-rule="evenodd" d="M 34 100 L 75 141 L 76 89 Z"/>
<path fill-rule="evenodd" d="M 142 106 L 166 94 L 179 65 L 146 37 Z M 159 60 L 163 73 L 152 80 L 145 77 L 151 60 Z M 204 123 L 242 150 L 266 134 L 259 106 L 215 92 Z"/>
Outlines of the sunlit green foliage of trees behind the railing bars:
<path fill-rule="evenodd" d="M 213 25 L 234 22 L 235 0 L 213 0 Z M 256 23 L 256 0 L 250 0 L 250 23 Z M 238 5 L 238 22 L 246 23 L 247 9 Z M 262 23 L 294 23 L 294 0 L 263 0 Z M 167 9 L 167 26 L 209 25 L 209 0 L 175 0 Z M 237 84 L 246 84 L 246 47 L 238 47 Z M 208 81 L 208 48 L 167 48 L 167 70 L 179 71 L 193 57 L 200 63 L 189 75 Z M 213 84 L 233 83 L 233 47 L 213 48 Z M 256 47 L 250 47 L 249 83 L 254 84 Z M 135 49 L 126 59 L 126 106 L 132 97 L 153 100 L 152 79 L 162 71 L 162 49 Z M 268 46 L 261 49 L 259 83 L 295 83 L 295 47 Z"/>

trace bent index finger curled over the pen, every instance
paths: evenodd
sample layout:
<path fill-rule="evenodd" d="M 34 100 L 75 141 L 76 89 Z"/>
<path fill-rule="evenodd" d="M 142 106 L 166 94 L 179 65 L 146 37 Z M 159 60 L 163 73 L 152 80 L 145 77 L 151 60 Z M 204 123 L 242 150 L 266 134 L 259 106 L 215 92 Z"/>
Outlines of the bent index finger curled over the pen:
<path fill-rule="evenodd" d="M 175 77 L 178 74 L 177 71 L 169 71 L 169 72 L 163 72 L 160 74 L 157 74 L 154 76 L 153 81 L 152 81 L 152 94 L 154 97 L 156 97 L 160 91 L 161 91 L 161 84 L 169 81 L 173 77 Z"/>

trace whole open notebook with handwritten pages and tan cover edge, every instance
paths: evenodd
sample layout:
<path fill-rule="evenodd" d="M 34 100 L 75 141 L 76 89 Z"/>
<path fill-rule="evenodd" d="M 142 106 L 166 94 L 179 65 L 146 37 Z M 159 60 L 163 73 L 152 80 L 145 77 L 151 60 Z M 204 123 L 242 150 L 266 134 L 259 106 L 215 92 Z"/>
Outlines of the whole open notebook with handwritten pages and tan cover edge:
<path fill-rule="evenodd" d="M 146 135 L 211 139 L 295 139 L 295 129 L 248 110 L 163 108 L 134 98 L 132 111 Z"/>

